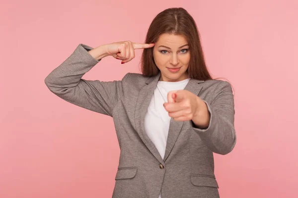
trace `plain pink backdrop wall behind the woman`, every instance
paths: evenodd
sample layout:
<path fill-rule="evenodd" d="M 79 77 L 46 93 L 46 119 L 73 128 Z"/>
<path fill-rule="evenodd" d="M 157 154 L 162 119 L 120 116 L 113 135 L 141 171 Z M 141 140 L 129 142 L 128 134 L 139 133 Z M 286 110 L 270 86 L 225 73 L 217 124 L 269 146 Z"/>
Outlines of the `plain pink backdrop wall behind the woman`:
<path fill-rule="evenodd" d="M 105 198 L 120 149 L 111 117 L 52 94 L 46 76 L 77 47 L 143 43 L 155 15 L 197 22 L 213 77 L 235 90 L 237 144 L 215 154 L 221 198 L 297 198 L 297 0 L 26 0 L 0 6 L 0 198 Z M 139 73 L 104 58 L 83 76 Z"/>

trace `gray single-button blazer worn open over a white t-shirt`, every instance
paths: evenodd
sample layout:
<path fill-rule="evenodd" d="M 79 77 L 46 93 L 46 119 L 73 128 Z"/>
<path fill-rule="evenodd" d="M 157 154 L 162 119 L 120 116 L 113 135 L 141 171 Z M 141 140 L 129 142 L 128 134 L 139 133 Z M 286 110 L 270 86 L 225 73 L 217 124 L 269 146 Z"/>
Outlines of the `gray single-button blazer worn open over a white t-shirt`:
<path fill-rule="evenodd" d="M 145 132 L 144 118 L 160 77 L 127 73 L 122 80 L 103 82 L 81 77 L 100 60 L 79 44 L 45 79 L 58 97 L 113 117 L 121 149 L 113 198 L 219 198 L 213 152 L 235 146 L 234 100 L 229 83 L 190 79 L 185 87 L 203 99 L 211 114 L 207 129 L 192 121 L 170 120 L 164 158 Z"/>

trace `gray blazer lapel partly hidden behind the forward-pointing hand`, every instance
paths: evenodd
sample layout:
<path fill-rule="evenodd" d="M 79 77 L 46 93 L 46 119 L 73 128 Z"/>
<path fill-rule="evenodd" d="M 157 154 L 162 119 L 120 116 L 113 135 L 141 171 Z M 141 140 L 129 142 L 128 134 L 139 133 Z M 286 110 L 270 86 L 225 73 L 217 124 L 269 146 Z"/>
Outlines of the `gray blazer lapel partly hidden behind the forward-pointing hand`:
<path fill-rule="evenodd" d="M 185 86 L 184 90 L 190 91 L 196 96 L 199 95 L 200 91 L 203 88 L 203 83 L 204 80 L 197 80 L 197 79 L 190 79 L 187 85 Z M 166 148 L 165 148 L 165 154 L 163 157 L 163 161 L 167 159 L 169 156 L 171 150 L 174 147 L 174 144 L 180 134 L 182 125 L 186 121 L 175 121 L 173 118 L 170 119 L 170 126 L 169 126 L 169 132 L 168 132 L 168 137 L 167 137 L 167 142 L 166 142 Z M 189 121 L 187 121 L 189 122 Z"/>

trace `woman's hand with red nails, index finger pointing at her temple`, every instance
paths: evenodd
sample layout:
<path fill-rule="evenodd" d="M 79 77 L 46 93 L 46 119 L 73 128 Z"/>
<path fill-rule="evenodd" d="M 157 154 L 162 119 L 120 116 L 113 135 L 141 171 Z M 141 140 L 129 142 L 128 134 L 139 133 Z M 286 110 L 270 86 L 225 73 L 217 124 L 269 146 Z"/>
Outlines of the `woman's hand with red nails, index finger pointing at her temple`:
<path fill-rule="evenodd" d="M 105 49 L 108 55 L 122 60 L 121 63 L 131 61 L 135 57 L 135 49 L 152 48 L 155 44 L 133 43 L 131 41 L 106 44 Z"/>

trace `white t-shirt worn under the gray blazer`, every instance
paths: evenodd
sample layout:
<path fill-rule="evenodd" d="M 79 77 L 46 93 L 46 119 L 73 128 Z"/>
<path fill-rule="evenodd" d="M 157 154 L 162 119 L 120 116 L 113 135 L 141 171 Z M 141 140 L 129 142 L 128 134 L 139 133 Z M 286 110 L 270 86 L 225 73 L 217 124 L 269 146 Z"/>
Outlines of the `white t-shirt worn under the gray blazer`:
<path fill-rule="evenodd" d="M 149 103 L 144 120 L 145 131 L 157 148 L 162 159 L 165 154 L 166 141 L 171 120 L 168 112 L 163 107 L 163 103 L 167 102 L 168 92 L 183 90 L 189 80 L 190 78 L 178 82 L 158 81 L 157 87 L 154 90 L 154 94 Z M 161 193 L 158 198 L 161 198 Z"/>

